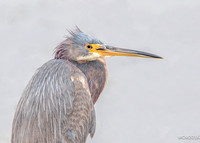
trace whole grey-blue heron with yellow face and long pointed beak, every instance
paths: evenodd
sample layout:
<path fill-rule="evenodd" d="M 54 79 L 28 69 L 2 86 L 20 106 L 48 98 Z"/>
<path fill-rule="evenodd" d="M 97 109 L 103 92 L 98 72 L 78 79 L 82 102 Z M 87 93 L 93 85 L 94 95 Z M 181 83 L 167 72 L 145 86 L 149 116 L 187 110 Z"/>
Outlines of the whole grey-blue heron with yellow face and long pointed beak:
<path fill-rule="evenodd" d="M 107 78 L 104 58 L 161 58 L 105 45 L 78 28 L 70 34 L 26 86 L 13 120 L 12 143 L 84 143 L 95 132 L 94 104 Z"/>

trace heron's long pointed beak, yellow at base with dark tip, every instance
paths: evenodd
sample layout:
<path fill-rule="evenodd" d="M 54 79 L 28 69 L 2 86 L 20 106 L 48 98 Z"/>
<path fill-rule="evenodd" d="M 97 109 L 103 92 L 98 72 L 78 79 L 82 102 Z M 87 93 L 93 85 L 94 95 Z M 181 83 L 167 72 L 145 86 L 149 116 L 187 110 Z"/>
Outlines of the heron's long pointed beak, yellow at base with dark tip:
<path fill-rule="evenodd" d="M 91 52 L 98 53 L 99 55 L 103 57 L 107 56 L 130 56 L 130 57 L 143 57 L 143 58 L 156 58 L 156 59 L 162 59 L 162 57 L 147 53 L 147 52 L 142 52 L 142 51 L 137 51 L 137 50 L 130 50 L 130 49 L 122 49 L 122 48 L 117 48 L 117 47 L 112 47 L 108 45 L 99 45 L 99 44 L 91 44 L 94 49 Z"/>

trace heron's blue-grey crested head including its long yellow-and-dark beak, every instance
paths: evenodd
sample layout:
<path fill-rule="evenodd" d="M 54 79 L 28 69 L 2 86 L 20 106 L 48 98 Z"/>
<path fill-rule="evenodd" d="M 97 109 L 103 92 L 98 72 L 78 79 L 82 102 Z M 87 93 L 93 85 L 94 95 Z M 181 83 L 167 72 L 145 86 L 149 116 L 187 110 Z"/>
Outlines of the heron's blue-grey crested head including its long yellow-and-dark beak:
<path fill-rule="evenodd" d="M 70 36 L 56 48 L 55 58 L 57 59 L 87 62 L 97 60 L 100 57 L 105 58 L 111 56 L 162 58 L 147 52 L 106 45 L 95 37 L 83 33 L 78 27 L 75 31 L 69 32 Z"/>

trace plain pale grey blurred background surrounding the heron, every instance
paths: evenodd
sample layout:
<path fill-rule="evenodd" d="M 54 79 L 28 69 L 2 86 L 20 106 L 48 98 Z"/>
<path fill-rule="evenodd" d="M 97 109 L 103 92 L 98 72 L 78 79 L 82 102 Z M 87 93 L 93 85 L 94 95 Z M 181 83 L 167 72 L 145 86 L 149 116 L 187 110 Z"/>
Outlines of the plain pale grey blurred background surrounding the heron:
<path fill-rule="evenodd" d="M 181 137 L 200 135 L 199 0 L 1 0 L 0 143 L 10 142 L 26 84 L 75 25 L 106 44 L 164 57 L 107 59 L 88 143 L 185 143 Z"/>

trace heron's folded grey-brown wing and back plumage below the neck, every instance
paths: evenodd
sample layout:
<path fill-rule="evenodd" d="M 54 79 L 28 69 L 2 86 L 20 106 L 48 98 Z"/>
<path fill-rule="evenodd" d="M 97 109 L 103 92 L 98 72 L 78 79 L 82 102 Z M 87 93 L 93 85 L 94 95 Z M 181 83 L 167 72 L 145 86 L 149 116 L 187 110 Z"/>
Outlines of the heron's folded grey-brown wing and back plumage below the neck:
<path fill-rule="evenodd" d="M 85 75 L 66 60 L 39 68 L 25 88 L 13 120 L 12 143 L 84 143 L 95 131 Z"/>

